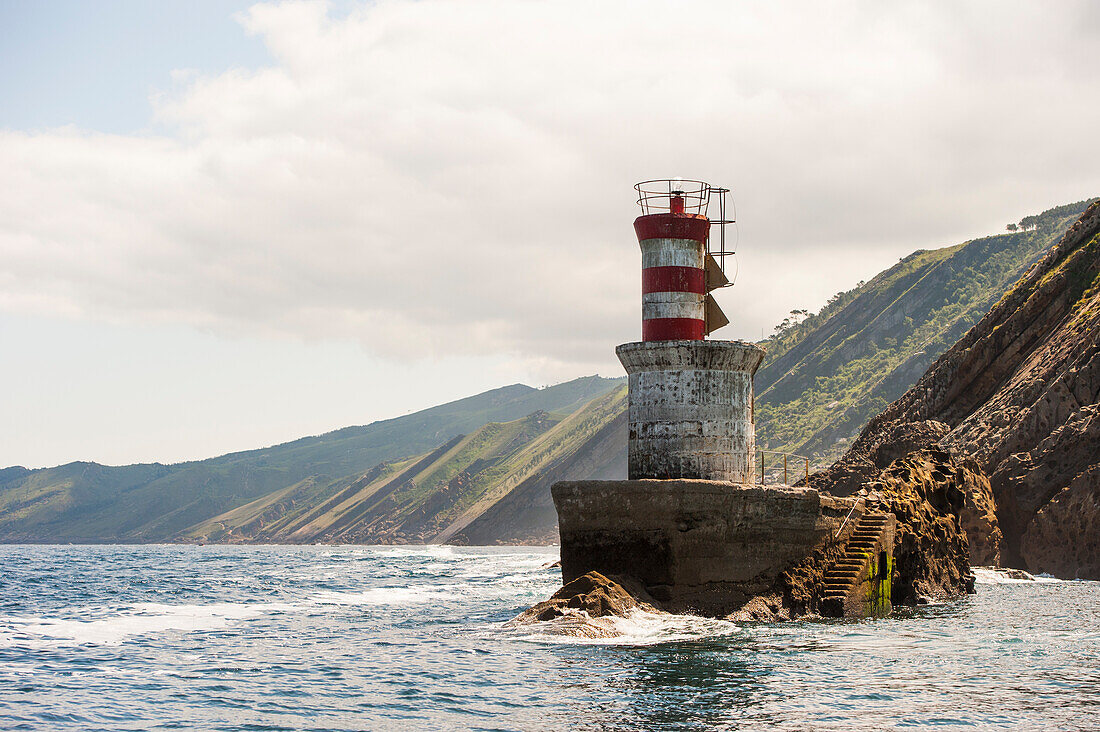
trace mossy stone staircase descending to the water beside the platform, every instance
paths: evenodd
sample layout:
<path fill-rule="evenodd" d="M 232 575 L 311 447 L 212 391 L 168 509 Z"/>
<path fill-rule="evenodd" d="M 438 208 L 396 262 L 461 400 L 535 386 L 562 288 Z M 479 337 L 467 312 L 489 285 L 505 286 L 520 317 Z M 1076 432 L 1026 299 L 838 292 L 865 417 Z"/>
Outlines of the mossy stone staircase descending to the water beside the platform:
<path fill-rule="evenodd" d="M 860 516 L 844 554 L 825 569 L 820 588 L 822 615 L 866 618 L 890 612 L 893 533 L 893 514 Z"/>

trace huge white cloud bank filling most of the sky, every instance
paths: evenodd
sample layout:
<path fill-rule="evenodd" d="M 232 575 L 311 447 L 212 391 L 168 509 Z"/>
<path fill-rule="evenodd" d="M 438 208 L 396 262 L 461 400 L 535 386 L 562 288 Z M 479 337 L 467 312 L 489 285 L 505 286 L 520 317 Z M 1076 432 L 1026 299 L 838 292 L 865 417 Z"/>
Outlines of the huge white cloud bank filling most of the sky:
<path fill-rule="evenodd" d="M 916 247 L 1096 195 L 1088 3 L 258 4 L 172 138 L 0 133 L 0 308 L 609 371 L 636 179 L 729 185 L 757 337 Z"/>

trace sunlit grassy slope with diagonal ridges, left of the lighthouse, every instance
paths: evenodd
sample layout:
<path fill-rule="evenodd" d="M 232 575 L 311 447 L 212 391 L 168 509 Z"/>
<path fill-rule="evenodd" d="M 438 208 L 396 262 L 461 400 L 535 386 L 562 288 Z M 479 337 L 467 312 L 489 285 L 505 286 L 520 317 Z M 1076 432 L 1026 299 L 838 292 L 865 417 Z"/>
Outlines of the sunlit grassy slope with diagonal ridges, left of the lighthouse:
<path fill-rule="evenodd" d="M 564 417 L 490 423 L 426 456 L 319 484 L 307 480 L 198 523 L 179 538 L 215 542 L 442 542 L 517 485 L 569 461 L 617 416 L 626 387 Z"/>

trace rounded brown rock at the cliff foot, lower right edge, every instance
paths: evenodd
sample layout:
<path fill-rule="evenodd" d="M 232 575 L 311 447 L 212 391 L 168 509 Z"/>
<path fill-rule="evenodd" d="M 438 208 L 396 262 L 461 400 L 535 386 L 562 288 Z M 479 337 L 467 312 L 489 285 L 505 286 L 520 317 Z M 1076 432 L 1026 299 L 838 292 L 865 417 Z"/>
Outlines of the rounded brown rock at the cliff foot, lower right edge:
<path fill-rule="evenodd" d="M 1078 476 L 1038 511 L 1020 553 L 1036 575 L 1100 580 L 1100 466 Z"/>

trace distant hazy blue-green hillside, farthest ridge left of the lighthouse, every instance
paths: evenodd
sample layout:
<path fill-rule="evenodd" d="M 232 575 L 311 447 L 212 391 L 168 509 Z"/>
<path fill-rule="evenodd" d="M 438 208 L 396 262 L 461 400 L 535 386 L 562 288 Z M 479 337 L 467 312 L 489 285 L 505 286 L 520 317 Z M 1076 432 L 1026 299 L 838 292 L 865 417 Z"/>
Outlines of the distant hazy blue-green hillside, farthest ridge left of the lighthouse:
<path fill-rule="evenodd" d="M 9 468 L 0 471 L 0 540 L 164 540 L 257 498 L 363 473 L 488 422 L 570 414 L 622 383 L 587 376 L 547 389 L 516 384 L 396 419 L 172 466 Z"/>

